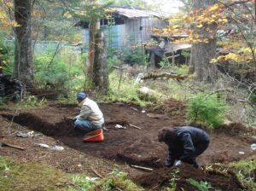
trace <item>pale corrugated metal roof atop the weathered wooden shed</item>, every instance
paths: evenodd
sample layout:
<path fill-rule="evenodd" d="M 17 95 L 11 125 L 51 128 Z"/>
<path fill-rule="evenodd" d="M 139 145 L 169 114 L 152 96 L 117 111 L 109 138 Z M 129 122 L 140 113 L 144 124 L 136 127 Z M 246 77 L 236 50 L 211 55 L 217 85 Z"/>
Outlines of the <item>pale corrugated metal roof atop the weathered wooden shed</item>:
<path fill-rule="evenodd" d="M 162 18 L 163 16 L 154 11 L 142 10 L 142 9 L 127 9 L 127 8 L 111 8 L 113 13 L 120 14 L 127 18 L 141 18 L 141 17 L 157 17 Z"/>

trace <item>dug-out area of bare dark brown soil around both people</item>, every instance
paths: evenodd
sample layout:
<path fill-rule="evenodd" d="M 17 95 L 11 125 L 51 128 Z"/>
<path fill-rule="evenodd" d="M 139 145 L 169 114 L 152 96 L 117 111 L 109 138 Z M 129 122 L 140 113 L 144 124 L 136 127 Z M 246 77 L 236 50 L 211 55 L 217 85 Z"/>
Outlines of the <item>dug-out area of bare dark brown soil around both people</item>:
<path fill-rule="evenodd" d="M 175 104 L 172 104 L 175 106 Z M 184 124 L 184 113 L 167 118 L 151 118 L 142 113 L 142 108 L 131 107 L 122 103 L 101 104 L 105 117 L 104 141 L 100 143 L 82 142 L 83 135 L 73 129 L 73 121 L 68 117 L 79 113 L 75 106 L 52 106 L 19 113 L 13 118 L 10 113 L 2 116 L 15 123 L 37 130 L 46 136 L 52 136 L 69 148 L 131 165 L 160 168 L 166 159 L 166 145 L 157 140 L 158 130 L 170 124 Z M 121 124 L 126 129 L 115 129 Z M 132 127 L 134 124 L 141 129 Z M 213 162 L 230 162 L 252 156 L 250 144 L 253 142 L 246 135 L 247 128 L 241 124 L 230 124 L 221 130 L 209 132 L 210 146 L 198 162 L 201 165 Z M 243 152 L 243 154 L 239 153 Z"/>

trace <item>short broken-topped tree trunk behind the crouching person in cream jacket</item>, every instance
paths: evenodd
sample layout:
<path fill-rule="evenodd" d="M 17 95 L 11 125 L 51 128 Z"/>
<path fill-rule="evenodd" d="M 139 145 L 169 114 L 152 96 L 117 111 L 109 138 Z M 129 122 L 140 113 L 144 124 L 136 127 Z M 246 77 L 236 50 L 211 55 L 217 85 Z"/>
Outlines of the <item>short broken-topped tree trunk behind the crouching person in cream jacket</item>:
<path fill-rule="evenodd" d="M 107 46 L 101 31 L 95 36 L 95 58 L 93 64 L 93 84 L 102 93 L 108 91 Z"/>

